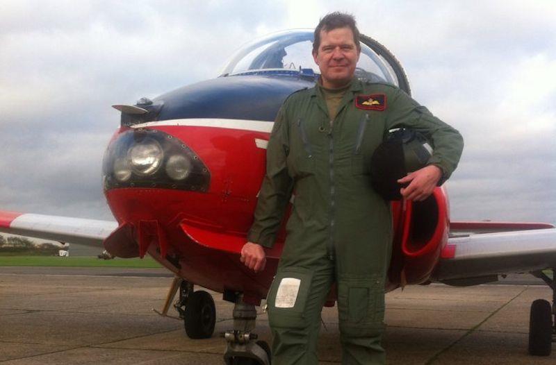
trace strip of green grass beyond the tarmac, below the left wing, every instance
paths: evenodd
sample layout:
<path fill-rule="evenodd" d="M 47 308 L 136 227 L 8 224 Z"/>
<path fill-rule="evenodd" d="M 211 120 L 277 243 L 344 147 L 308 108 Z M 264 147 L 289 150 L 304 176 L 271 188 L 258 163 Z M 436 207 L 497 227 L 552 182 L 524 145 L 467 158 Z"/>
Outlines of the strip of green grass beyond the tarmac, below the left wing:
<path fill-rule="evenodd" d="M 0 256 L 0 266 L 162 267 L 152 257 L 101 260 L 97 257 Z"/>

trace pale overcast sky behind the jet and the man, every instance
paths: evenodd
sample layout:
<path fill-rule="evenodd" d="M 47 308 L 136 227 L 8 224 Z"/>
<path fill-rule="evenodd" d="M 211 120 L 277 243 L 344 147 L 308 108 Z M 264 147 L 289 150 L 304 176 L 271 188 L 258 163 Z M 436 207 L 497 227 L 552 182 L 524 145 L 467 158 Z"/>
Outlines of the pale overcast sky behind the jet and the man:
<path fill-rule="evenodd" d="M 347 5 L 349 3 L 349 5 Z M 218 76 L 253 37 L 356 15 L 465 139 L 452 220 L 556 223 L 547 1 L 1 1 L 0 210 L 112 219 L 101 158 L 134 103 Z"/>

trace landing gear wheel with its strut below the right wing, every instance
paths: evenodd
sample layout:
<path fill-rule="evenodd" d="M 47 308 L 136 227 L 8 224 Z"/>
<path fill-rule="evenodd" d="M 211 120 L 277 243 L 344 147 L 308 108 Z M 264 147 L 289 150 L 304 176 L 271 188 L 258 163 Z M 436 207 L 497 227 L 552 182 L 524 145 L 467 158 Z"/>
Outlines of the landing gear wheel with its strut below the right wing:
<path fill-rule="evenodd" d="M 552 352 L 552 343 L 556 342 L 556 269 L 550 278 L 542 271 L 532 273 L 541 278 L 553 290 L 553 303 L 537 299 L 531 305 L 529 321 L 529 353 L 534 356 L 548 356 Z"/>

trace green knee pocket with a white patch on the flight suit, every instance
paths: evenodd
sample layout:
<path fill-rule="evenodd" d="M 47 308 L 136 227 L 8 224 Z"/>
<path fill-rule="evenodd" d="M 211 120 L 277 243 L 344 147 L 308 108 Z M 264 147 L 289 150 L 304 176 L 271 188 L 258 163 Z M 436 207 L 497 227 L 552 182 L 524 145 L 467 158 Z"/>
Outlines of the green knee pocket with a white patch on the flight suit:
<path fill-rule="evenodd" d="M 298 268 L 276 273 L 266 300 L 271 327 L 306 328 L 304 312 L 312 278 L 311 271 Z"/>

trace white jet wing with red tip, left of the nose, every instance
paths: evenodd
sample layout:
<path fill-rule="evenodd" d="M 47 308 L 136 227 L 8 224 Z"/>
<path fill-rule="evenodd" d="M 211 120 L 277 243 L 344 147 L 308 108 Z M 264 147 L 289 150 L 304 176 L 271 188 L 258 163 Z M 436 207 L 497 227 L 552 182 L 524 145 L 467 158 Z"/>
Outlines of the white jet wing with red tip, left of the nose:
<path fill-rule="evenodd" d="M 115 221 L 0 211 L 0 232 L 73 244 L 101 247 L 116 228 Z"/>

